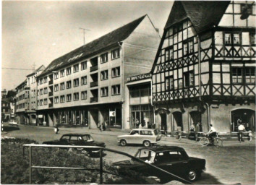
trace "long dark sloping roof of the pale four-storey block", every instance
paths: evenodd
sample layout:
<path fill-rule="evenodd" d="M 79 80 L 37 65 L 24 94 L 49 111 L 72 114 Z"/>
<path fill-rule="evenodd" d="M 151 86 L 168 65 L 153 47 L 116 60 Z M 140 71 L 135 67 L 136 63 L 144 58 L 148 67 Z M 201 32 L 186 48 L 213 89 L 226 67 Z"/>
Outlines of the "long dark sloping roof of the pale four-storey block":
<path fill-rule="evenodd" d="M 146 16 L 147 15 L 144 15 L 137 20 L 129 22 L 127 25 L 119 27 L 111 33 L 103 35 L 101 38 L 93 40 L 92 42 L 65 54 L 64 56 L 59 57 L 58 59 L 55 59 L 39 76 L 125 40 L 135 30 L 135 28 L 140 25 L 140 22 L 142 22 Z"/>

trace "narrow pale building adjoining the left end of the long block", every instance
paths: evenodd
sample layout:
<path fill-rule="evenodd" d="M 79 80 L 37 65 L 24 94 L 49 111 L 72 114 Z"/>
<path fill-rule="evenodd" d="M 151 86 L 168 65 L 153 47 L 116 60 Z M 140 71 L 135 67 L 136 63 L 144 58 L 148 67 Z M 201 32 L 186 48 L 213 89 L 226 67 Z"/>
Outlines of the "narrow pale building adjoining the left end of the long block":
<path fill-rule="evenodd" d="M 37 83 L 36 77 L 38 74 L 43 72 L 46 69 L 45 66 L 40 66 L 35 72 L 27 75 L 27 89 L 29 89 L 29 93 L 27 95 L 27 110 L 25 111 L 27 116 L 27 124 L 37 124 L 36 121 L 36 102 L 37 102 Z"/>

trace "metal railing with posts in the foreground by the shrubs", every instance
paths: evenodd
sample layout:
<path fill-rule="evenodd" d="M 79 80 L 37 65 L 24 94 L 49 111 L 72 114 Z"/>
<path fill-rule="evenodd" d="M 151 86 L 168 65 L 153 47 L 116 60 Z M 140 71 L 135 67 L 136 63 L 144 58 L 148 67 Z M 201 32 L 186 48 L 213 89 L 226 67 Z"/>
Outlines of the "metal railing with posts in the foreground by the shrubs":
<path fill-rule="evenodd" d="M 155 165 L 151 165 L 150 163 L 145 163 L 145 161 L 140 160 L 139 158 L 135 158 L 134 156 L 129 155 L 129 154 L 125 153 L 125 152 L 120 152 L 120 151 L 112 150 L 112 149 L 105 148 L 105 147 L 74 146 L 74 145 L 36 145 L 36 144 L 25 144 L 25 145 L 23 145 L 23 152 L 22 152 L 23 157 L 25 156 L 25 147 L 29 147 L 29 184 L 32 183 L 32 169 L 33 168 L 68 169 L 68 170 L 97 170 L 97 171 L 100 171 L 100 184 L 103 184 L 103 173 L 110 173 L 110 174 L 112 174 L 114 176 L 121 176 L 121 175 L 116 174 L 116 173 L 111 173 L 111 172 L 108 172 L 108 171 L 103 171 L 103 150 L 106 150 L 108 152 L 114 152 L 114 153 L 117 153 L 117 154 L 120 154 L 120 155 L 125 155 L 125 156 L 127 156 L 129 158 L 132 158 L 132 160 L 136 160 L 139 163 L 143 163 L 145 165 L 148 165 L 151 168 L 154 168 L 154 169 L 156 169 L 158 171 L 166 173 L 169 176 L 174 177 L 174 178 L 178 179 L 179 181 L 182 181 L 185 184 L 192 184 L 190 181 L 187 181 L 184 178 L 176 176 L 173 173 L 170 173 L 168 171 L 163 170 L 162 168 L 158 168 Z M 94 148 L 94 149 L 99 149 L 100 150 L 100 168 L 99 169 L 88 169 L 88 168 L 72 168 L 72 167 L 57 167 L 57 166 L 35 166 L 35 165 L 32 165 L 32 156 L 33 156 L 32 155 L 32 147 L 57 147 L 57 148 L 61 148 L 62 147 L 62 148 Z M 121 177 L 127 178 L 127 177 L 124 177 L 124 176 L 121 176 Z"/>

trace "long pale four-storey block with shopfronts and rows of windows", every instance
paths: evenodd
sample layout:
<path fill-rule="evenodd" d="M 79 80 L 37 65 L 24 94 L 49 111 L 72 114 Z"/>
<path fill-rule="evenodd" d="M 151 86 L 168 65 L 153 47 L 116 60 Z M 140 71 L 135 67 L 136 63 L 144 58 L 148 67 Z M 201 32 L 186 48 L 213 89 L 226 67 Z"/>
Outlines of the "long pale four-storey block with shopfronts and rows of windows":
<path fill-rule="evenodd" d="M 38 121 L 124 128 L 124 83 L 150 72 L 159 42 L 145 15 L 52 61 L 37 78 Z"/>

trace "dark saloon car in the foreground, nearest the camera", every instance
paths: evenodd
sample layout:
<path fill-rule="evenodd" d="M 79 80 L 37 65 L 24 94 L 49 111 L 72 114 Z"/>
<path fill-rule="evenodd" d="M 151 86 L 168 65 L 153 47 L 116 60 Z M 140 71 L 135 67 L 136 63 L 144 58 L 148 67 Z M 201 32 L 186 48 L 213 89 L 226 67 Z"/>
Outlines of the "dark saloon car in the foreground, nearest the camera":
<path fill-rule="evenodd" d="M 201 176 L 202 171 L 205 171 L 205 159 L 189 157 L 182 147 L 143 147 L 137 151 L 135 158 L 155 165 L 176 176 L 187 178 L 189 181 L 196 181 Z M 170 177 L 163 171 L 150 168 L 148 165 L 135 160 L 123 160 L 113 163 L 113 165 L 117 168 L 129 168 L 141 172 L 145 176 Z"/>

